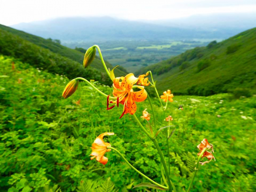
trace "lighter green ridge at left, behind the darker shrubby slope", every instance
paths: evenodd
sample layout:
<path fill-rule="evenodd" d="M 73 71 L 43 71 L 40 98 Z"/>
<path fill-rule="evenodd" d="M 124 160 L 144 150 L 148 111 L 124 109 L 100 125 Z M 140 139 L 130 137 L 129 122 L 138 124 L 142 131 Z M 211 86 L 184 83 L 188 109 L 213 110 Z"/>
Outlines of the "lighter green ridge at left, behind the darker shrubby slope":
<path fill-rule="evenodd" d="M 9 33 L 12 33 L 14 35 L 17 35 L 17 36 L 21 37 L 22 39 L 27 40 L 27 41 L 29 41 L 33 44 L 36 44 L 40 47 L 49 49 L 51 52 L 58 53 L 61 56 L 64 56 L 71 60 L 77 61 L 78 63 L 81 63 L 81 64 L 83 63 L 85 52 L 80 52 L 75 49 L 70 49 L 68 47 L 65 47 L 65 46 L 59 44 L 59 43 L 53 42 L 51 39 L 44 39 L 42 37 L 34 36 L 31 34 L 25 33 L 23 31 L 16 30 L 16 29 L 13 29 L 13 28 L 10 28 L 10 27 L 0 24 L 0 30 L 1 29 L 4 31 L 7 31 Z M 108 68 L 113 68 L 113 66 L 111 64 L 109 64 L 108 62 L 106 62 L 106 65 Z M 105 71 L 104 68 L 102 67 L 102 63 L 101 63 L 100 59 L 97 57 L 92 62 L 91 67 L 97 69 L 97 71 L 100 71 L 100 72 Z M 118 68 L 116 68 L 115 72 L 116 72 L 117 76 L 122 76 L 126 73 L 125 69 L 120 66 Z"/>

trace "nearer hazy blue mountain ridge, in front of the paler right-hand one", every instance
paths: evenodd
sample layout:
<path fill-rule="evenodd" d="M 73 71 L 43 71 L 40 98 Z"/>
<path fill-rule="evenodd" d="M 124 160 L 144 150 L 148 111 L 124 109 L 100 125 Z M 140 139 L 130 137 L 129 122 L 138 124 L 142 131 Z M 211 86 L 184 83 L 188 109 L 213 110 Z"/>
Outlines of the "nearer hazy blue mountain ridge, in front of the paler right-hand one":
<path fill-rule="evenodd" d="M 12 25 L 12 27 L 44 38 L 60 39 L 62 42 L 99 42 L 138 39 L 224 39 L 233 35 L 233 29 L 231 29 L 230 34 L 229 28 L 225 30 L 223 28 L 221 30 L 208 30 L 207 27 L 195 28 L 186 23 L 184 24 L 188 26 L 186 28 L 184 26 L 168 25 L 168 22 L 165 21 L 146 23 L 110 17 L 70 17 L 20 23 Z"/>

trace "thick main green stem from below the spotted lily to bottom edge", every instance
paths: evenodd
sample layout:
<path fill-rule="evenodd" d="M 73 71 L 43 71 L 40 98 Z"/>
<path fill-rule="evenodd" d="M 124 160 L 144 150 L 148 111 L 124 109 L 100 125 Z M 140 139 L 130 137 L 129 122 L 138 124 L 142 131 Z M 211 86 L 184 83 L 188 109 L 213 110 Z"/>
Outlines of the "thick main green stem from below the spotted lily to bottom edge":
<path fill-rule="evenodd" d="M 139 124 L 140 128 L 142 129 L 143 132 L 145 132 L 147 134 L 147 136 L 149 137 L 149 139 L 151 139 L 153 141 L 153 143 L 155 144 L 156 146 L 156 149 L 157 149 L 157 152 L 160 156 L 160 159 L 161 159 L 161 163 L 163 164 L 164 166 L 164 172 L 166 174 L 166 178 L 167 178 L 167 182 L 168 182 L 168 186 L 171 186 L 171 180 L 170 180 L 170 176 L 169 176 L 169 173 L 168 173 L 168 170 L 167 170 L 167 166 L 166 166 L 166 163 L 164 161 L 164 156 L 163 156 L 163 153 L 158 145 L 158 142 L 156 140 L 156 138 L 152 138 L 150 136 L 150 134 L 147 132 L 147 130 L 143 127 L 143 125 L 140 123 L 139 119 L 137 118 L 137 116 L 135 114 L 132 115 L 134 117 L 134 119 L 136 120 L 136 122 Z M 173 189 L 174 189 L 174 185 L 173 185 Z M 175 189 L 176 190 L 176 189 Z"/>

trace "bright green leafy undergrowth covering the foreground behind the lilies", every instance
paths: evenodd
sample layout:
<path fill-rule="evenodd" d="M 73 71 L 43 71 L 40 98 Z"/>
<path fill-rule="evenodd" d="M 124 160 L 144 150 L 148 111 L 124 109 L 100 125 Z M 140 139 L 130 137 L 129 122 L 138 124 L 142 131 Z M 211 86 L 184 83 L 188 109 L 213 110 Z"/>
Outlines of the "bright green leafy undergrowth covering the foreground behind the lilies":
<path fill-rule="evenodd" d="M 0 56 L 0 66 L 1 192 L 142 191 L 132 187 L 145 180 L 114 151 L 107 153 L 109 162 L 105 166 L 90 160 L 92 142 L 102 132 L 115 132 L 104 140 L 141 172 L 163 182 L 156 149 L 131 115 L 119 119 L 122 107 L 107 111 L 106 98 L 82 82 L 74 95 L 62 99 L 69 81 L 66 77 L 13 58 Z M 94 84 L 111 94 L 110 87 Z M 161 120 L 164 117 L 158 100 L 152 101 L 158 120 L 166 124 Z M 179 125 L 170 139 L 169 154 L 171 179 L 177 191 L 188 188 L 196 146 L 204 138 L 213 144 L 216 162 L 199 167 L 191 191 L 256 190 L 255 103 L 255 96 L 233 99 L 231 94 L 174 97 L 166 113 L 174 118 L 172 124 Z M 183 110 L 178 110 L 180 105 Z M 138 103 L 136 115 L 145 108 L 152 113 L 146 100 Z M 141 122 L 149 130 L 148 124 Z M 157 137 L 166 156 L 164 131 Z"/>

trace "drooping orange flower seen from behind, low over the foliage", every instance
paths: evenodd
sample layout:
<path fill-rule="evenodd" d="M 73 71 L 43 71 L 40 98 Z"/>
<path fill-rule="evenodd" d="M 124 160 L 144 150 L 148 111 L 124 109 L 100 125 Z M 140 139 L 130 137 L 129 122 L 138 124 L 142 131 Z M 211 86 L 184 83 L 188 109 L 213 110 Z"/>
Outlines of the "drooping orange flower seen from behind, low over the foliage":
<path fill-rule="evenodd" d="M 103 137 L 105 135 L 114 135 L 112 132 L 105 132 L 100 134 L 92 143 L 92 153 L 90 154 L 91 160 L 96 157 L 96 160 L 99 161 L 102 164 L 107 164 L 108 163 L 108 158 L 105 157 L 105 153 L 108 151 L 111 151 L 111 149 L 107 149 L 107 147 L 110 147 L 111 145 L 109 143 L 105 143 L 103 140 Z"/>

